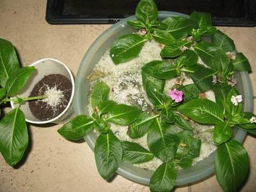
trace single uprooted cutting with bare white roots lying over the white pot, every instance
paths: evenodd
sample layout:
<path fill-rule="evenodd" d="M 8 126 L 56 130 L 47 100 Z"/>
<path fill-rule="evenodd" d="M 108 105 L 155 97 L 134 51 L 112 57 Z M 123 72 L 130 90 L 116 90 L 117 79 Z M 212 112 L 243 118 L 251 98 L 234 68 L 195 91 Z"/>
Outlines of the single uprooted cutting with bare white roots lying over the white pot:
<path fill-rule="evenodd" d="M 16 165 L 22 159 L 29 141 L 24 115 L 26 113 L 20 110 L 22 105 L 26 102 L 52 104 L 53 101 L 56 104 L 59 101 L 56 93 L 60 93 L 60 90 L 52 88 L 48 89 L 48 92 L 43 92 L 41 89 L 40 94 L 37 93 L 30 97 L 19 95 L 26 84 L 31 83 L 30 78 L 34 71 L 34 66 L 20 68 L 18 57 L 11 42 L 0 39 L 0 106 L 1 109 L 4 109 L 9 106 L 8 103 L 13 104 L 13 109 L 9 113 L 5 114 L 4 111 L 1 111 L 0 152 L 11 166 Z"/>

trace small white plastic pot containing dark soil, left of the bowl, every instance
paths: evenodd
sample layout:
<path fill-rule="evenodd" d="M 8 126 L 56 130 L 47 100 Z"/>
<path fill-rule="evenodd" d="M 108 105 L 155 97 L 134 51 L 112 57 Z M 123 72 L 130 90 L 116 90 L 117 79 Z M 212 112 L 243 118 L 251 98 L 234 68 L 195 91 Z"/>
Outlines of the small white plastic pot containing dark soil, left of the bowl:
<path fill-rule="evenodd" d="M 37 119 L 30 111 L 29 103 L 24 102 L 20 106 L 20 110 L 22 110 L 22 112 L 24 113 L 26 121 L 34 124 L 67 122 L 74 115 L 72 101 L 75 93 L 75 82 L 70 69 L 61 61 L 53 58 L 44 58 L 44 59 L 37 60 L 34 63 L 32 63 L 30 66 L 34 66 L 35 71 L 31 75 L 28 82 L 26 83 L 26 86 L 18 93 L 20 97 L 29 97 L 35 84 L 38 81 L 40 81 L 42 78 L 50 74 L 61 74 L 66 76 L 72 83 L 72 93 L 66 109 L 63 110 L 62 113 L 60 113 L 58 116 L 54 117 L 53 119 L 45 120 L 45 121 Z M 16 107 L 16 105 L 13 102 L 11 102 L 11 106 L 12 108 Z"/>

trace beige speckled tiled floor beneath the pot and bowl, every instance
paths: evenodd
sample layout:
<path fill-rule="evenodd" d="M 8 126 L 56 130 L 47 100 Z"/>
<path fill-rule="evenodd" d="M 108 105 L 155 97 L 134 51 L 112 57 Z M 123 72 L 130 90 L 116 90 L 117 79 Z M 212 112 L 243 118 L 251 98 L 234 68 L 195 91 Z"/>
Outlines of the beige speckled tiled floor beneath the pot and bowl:
<path fill-rule="evenodd" d="M 45 21 L 46 1 L 0 2 L 0 38 L 10 40 L 19 53 L 23 66 L 39 58 L 52 57 L 66 63 L 76 74 L 79 63 L 96 37 L 110 25 L 49 25 Z M 256 28 L 221 27 L 230 36 L 239 52 L 243 52 L 252 67 L 250 74 L 256 96 Z M 254 113 L 256 105 L 254 99 Z M 57 129 L 30 126 L 30 148 L 26 163 L 19 168 L 7 166 L 0 157 L 0 191 L 149 191 L 148 187 L 117 176 L 105 182 L 97 173 L 94 156 L 87 143 L 63 139 Z M 255 191 L 256 139 L 248 136 L 244 142 L 251 170 L 244 192 Z M 213 176 L 175 191 L 221 191 Z"/>

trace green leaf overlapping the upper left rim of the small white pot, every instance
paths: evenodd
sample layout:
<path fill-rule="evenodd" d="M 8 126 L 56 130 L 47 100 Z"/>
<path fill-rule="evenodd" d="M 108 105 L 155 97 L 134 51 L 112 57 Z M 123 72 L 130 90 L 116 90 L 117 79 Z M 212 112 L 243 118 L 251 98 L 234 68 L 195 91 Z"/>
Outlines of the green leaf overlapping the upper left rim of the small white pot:
<path fill-rule="evenodd" d="M 25 86 L 34 70 L 35 67 L 24 67 L 12 73 L 6 81 L 5 88 L 7 90 L 7 95 L 16 95 L 18 91 Z"/>

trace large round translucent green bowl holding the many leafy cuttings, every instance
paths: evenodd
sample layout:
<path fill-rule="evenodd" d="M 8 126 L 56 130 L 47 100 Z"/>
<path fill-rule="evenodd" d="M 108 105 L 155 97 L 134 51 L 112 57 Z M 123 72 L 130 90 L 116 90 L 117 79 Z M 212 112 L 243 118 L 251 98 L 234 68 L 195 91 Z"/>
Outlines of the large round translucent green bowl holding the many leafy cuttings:
<path fill-rule="evenodd" d="M 176 12 L 159 11 L 159 19 L 162 20 L 169 16 L 183 16 L 188 17 Z M 86 77 L 92 73 L 94 66 L 99 61 L 101 56 L 108 50 L 113 41 L 120 35 L 131 33 L 135 31 L 126 24 L 126 20 L 135 20 L 135 16 L 128 17 L 120 22 L 117 22 L 109 29 L 105 30 L 91 45 L 86 54 L 84 55 L 75 80 L 75 96 L 74 96 L 74 110 L 75 114 L 88 114 L 88 92 L 90 83 Z M 252 112 L 252 87 L 250 78 L 247 72 L 240 72 L 236 74 L 239 82 L 238 90 L 243 95 L 244 111 Z M 236 130 L 234 138 L 239 142 L 243 142 L 246 133 L 241 130 Z M 97 136 L 94 132 L 84 138 L 88 145 L 94 150 L 95 141 Z M 214 161 L 215 153 L 212 153 L 206 159 L 198 162 L 197 164 L 187 168 L 178 170 L 176 185 L 184 185 L 199 180 L 206 179 L 209 175 L 214 174 Z M 137 183 L 148 185 L 153 171 L 144 170 L 133 166 L 132 164 L 123 162 L 118 168 L 117 173 L 127 179 Z"/>

